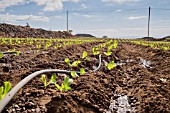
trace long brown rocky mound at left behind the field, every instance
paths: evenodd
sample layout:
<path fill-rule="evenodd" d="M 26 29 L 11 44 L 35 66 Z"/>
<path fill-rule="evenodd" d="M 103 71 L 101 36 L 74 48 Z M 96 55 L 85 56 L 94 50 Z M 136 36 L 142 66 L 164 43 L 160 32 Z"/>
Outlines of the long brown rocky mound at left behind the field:
<path fill-rule="evenodd" d="M 73 37 L 73 35 L 67 31 L 48 31 L 41 28 L 31 28 L 28 24 L 26 26 L 17 26 L 0 23 L 0 37 L 69 38 Z"/>

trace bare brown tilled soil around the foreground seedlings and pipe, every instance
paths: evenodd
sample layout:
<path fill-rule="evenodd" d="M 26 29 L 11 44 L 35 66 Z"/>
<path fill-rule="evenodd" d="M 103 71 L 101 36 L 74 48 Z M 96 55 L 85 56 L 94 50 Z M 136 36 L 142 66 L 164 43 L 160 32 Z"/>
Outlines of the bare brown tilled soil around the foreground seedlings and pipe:
<path fill-rule="evenodd" d="M 91 61 L 82 61 L 74 70 L 81 67 L 93 70 L 93 66 L 98 65 L 98 56 L 92 55 L 91 49 L 98 44 L 6 55 L 0 60 L 0 86 L 4 81 L 15 86 L 29 74 L 42 69 L 73 70 L 64 59 L 81 59 L 83 51 L 89 53 Z M 9 49 L 6 47 L 1 51 Z M 18 49 L 27 50 L 26 47 Z M 3 113 L 169 113 L 170 51 L 120 42 L 112 52 L 110 57 L 102 54 L 102 60 L 117 63 L 111 71 L 103 63 L 99 71 L 75 79 L 68 92 L 56 91 L 53 85 L 45 89 L 40 76 L 36 77 L 17 93 Z M 58 77 L 58 83 L 62 79 Z"/>

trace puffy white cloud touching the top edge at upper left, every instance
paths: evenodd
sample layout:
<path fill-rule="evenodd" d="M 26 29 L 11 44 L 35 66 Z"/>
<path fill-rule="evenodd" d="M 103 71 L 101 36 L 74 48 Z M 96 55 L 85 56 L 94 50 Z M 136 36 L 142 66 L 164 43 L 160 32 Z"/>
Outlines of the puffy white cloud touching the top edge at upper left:
<path fill-rule="evenodd" d="M 27 4 L 35 2 L 39 6 L 44 6 L 43 11 L 62 10 L 63 2 L 79 2 L 80 0 L 1 0 L 0 10 L 5 10 L 9 6 Z"/>

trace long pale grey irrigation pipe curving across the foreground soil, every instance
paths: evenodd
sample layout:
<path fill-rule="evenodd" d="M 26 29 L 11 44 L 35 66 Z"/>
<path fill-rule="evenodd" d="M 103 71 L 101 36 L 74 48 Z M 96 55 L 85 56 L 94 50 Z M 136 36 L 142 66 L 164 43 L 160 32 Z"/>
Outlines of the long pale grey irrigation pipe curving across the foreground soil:
<path fill-rule="evenodd" d="M 93 70 L 94 72 L 99 70 L 101 67 L 101 54 L 99 55 L 99 65 L 98 67 Z M 40 75 L 40 74 L 44 74 L 44 73 L 65 73 L 65 74 L 69 74 L 71 73 L 71 71 L 67 71 L 67 70 L 59 70 L 59 69 L 45 69 L 45 70 L 40 70 L 40 71 L 36 71 L 30 75 L 28 75 L 27 77 L 25 77 L 22 81 L 20 81 L 15 87 L 13 87 L 8 94 L 0 101 L 0 113 L 2 112 L 2 110 L 5 108 L 5 106 L 11 101 L 11 99 L 14 97 L 14 95 L 24 86 L 26 85 L 30 80 L 32 80 L 34 77 Z M 78 74 L 80 74 L 80 72 L 77 72 Z"/>

